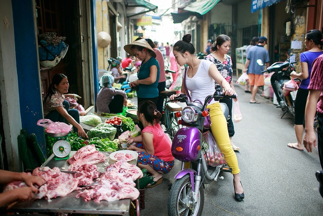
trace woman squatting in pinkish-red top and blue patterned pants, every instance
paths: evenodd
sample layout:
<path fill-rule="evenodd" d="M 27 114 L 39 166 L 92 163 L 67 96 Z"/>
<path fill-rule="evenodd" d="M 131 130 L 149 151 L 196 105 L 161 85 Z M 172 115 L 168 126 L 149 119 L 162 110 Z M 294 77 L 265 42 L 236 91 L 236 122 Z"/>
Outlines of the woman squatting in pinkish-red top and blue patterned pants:
<path fill-rule="evenodd" d="M 127 149 L 138 153 L 138 166 L 151 173 L 153 181 L 146 186 L 152 188 L 163 182 L 163 174 L 167 174 L 174 166 L 171 151 L 171 140 L 159 124 L 161 113 L 156 110 L 152 101 L 142 101 L 138 106 L 137 118 L 143 124 L 141 136 L 126 139 L 130 145 Z"/>

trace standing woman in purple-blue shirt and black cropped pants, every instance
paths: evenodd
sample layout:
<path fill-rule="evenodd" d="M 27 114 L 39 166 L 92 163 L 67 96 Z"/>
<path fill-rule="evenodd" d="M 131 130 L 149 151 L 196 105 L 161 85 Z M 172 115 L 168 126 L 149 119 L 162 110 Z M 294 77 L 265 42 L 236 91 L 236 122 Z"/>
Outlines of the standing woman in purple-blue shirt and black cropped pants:
<path fill-rule="evenodd" d="M 302 137 L 304 131 L 304 116 L 305 116 L 305 106 L 308 96 L 308 84 L 311 77 L 312 63 L 313 61 L 323 54 L 321 46 L 323 45 L 322 32 L 320 30 L 314 29 L 307 32 L 305 36 L 305 48 L 308 51 L 301 53 L 301 72 L 296 73 L 293 71 L 291 73 L 292 78 L 301 79 L 301 84 L 297 90 L 297 95 L 295 99 L 295 134 L 297 143 L 288 143 L 287 146 L 290 148 L 295 148 L 303 151 Z"/>

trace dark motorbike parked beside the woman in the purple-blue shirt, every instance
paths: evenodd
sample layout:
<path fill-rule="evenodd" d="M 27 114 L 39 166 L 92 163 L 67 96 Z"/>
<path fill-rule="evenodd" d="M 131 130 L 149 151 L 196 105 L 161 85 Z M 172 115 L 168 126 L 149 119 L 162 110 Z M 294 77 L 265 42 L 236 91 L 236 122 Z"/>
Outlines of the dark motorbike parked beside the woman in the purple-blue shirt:
<path fill-rule="evenodd" d="M 290 81 L 290 74 L 292 71 L 295 70 L 293 64 L 297 62 L 290 62 L 290 58 L 286 60 L 286 62 L 275 62 L 270 67 L 267 67 L 266 70 L 261 71 L 261 73 L 268 72 L 272 73 L 275 72 L 277 74 L 277 79 L 275 80 L 275 86 L 273 86 L 273 89 L 276 88 L 278 91 L 279 97 L 281 98 L 280 107 L 282 108 L 282 111 L 284 112 L 282 117 L 289 113 L 292 116 L 295 115 L 294 111 L 294 105 L 295 105 L 295 99 L 297 90 L 291 90 L 291 89 L 285 89 L 284 85 L 286 82 Z M 300 83 L 299 79 L 294 79 L 298 85 Z"/>

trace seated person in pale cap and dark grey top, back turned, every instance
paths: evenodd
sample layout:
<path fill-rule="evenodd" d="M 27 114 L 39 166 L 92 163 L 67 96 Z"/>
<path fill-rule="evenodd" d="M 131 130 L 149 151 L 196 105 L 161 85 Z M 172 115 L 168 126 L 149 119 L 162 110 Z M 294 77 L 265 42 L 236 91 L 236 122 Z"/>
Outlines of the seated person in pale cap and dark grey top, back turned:
<path fill-rule="evenodd" d="M 112 75 L 103 75 L 100 79 L 102 89 L 96 97 L 97 113 L 121 113 L 123 106 L 127 106 L 127 94 L 112 88 L 115 79 Z"/>

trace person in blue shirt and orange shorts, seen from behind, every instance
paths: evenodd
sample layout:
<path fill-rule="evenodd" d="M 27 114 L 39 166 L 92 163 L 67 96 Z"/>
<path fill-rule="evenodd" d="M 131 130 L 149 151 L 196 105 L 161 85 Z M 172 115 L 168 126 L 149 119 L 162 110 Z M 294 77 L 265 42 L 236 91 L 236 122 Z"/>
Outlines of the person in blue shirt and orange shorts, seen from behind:
<path fill-rule="evenodd" d="M 269 54 L 266 49 L 263 48 L 267 44 L 267 38 L 264 36 L 259 37 L 258 44 L 252 47 L 247 56 L 247 61 L 243 72 L 248 71 L 249 85 L 251 90 L 251 104 L 259 104 L 255 97 L 258 91 L 258 87 L 264 85 L 263 75 L 261 71 L 264 70 L 265 64 L 269 67 Z"/>

